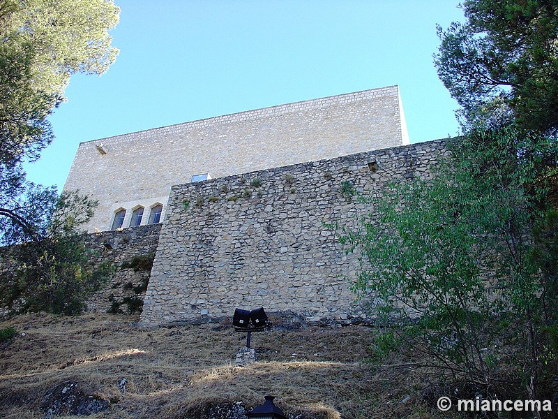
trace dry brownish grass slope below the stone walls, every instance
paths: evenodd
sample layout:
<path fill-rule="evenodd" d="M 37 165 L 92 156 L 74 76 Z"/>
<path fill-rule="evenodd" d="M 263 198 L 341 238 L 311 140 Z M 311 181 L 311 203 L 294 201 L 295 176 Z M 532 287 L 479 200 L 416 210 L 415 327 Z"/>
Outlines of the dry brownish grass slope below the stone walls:
<path fill-rule="evenodd" d="M 42 418 L 40 400 L 62 381 L 111 401 L 92 418 L 206 418 L 210 406 L 255 406 L 278 396 L 299 418 L 432 418 L 408 369 L 365 362 L 373 330 L 347 326 L 274 329 L 252 336 L 259 362 L 235 367 L 246 336 L 209 323 L 145 330 L 137 318 L 86 314 L 19 316 L 0 347 L 0 416 Z M 24 334 L 24 335 L 22 335 Z M 399 362 L 395 360 L 395 362 Z M 117 383 L 126 378 L 126 392 Z M 412 396 L 406 402 L 402 399 Z"/>

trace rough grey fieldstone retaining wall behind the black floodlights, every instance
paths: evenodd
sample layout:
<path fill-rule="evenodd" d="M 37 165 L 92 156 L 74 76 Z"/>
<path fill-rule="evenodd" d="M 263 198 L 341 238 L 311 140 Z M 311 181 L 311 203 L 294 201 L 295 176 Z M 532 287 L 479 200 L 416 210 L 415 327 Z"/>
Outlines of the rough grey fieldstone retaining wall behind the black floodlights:
<path fill-rule="evenodd" d="M 327 223 L 358 225 L 389 182 L 430 177 L 444 141 L 380 149 L 172 187 L 142 323 L 235 308 L 291 311 L 309 320 L 366 315 L 350 290 L 359 267 Z M 372 200 L 373 203 L 373 200 Z M 373 204 L 372 204 L 373 205 Z"/>

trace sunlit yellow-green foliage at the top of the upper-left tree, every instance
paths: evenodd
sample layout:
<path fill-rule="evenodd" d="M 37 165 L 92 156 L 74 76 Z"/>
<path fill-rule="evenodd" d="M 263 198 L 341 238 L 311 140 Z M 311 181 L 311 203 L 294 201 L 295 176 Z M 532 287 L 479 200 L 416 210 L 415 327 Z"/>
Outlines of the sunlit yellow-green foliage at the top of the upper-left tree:
<path fill-rule="evenodd" d="M 103 74 L 116 59 L 108 31 L 119 8 L 112 0 L 12 1 L 7 42 L 31 48 L 37 91 L 62 96 L 70 75 Z"/>

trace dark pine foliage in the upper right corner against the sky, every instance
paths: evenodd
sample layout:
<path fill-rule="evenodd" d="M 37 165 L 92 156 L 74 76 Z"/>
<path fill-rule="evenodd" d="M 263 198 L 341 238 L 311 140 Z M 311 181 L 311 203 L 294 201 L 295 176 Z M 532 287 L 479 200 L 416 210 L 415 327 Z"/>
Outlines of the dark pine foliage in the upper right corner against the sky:
<path fill-rule="evenodd" d="M 558 3 L 466 0 L 467 21 L 438 29 L 439 78 L 469 127 L 558 133 Z"/>

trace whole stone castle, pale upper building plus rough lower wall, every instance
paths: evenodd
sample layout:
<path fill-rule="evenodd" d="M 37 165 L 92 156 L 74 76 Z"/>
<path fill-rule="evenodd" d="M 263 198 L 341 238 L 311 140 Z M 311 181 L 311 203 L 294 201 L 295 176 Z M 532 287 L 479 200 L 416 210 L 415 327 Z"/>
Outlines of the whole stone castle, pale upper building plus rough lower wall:
<path fill-rule="evenodd" d="M 99 200 L 87 228 L 103 257 L 154 255 L 145 325 L 236 307 L 350 320 L 366 316 L 359 264 L 327 225 L 358 228 L 353 191 L 428 178 L 444 152 L 409 145 L 392 86 L 83 142 L 64 189 Z M 92 309 L 115 304 L 127 272 Z"/>

